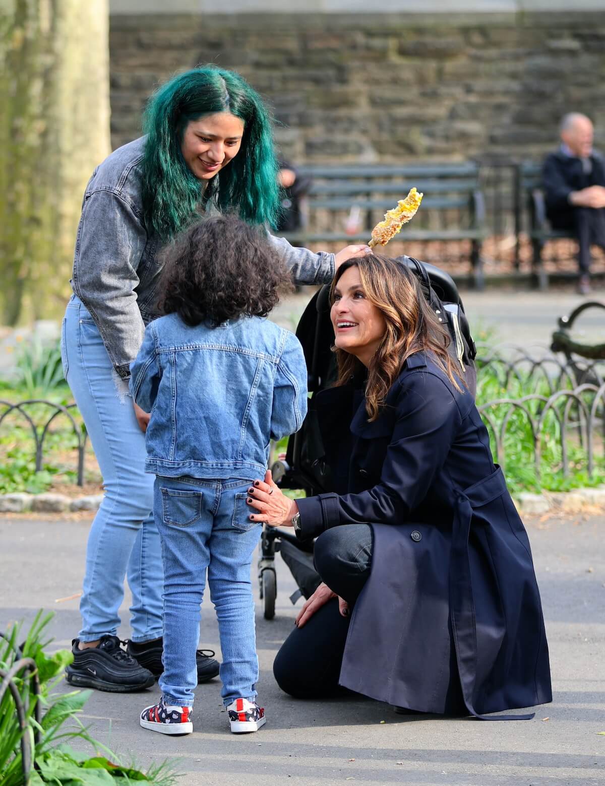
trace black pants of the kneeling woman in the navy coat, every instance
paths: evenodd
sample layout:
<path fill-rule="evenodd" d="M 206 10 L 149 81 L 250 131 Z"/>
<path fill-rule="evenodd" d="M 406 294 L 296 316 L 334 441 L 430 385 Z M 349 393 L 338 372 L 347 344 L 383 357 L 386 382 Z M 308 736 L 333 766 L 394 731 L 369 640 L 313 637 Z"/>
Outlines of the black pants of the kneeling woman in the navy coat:
<path fill-rule="evenodd" d="M 315 567 L 322 581 L 355 604 L 370 575 L 372 528 L 345 524 L 326 530 L 315 541 Z M 301 628 L 294 628 L 279 649 L 273 674 L 279 687 L 299 699 L 323 699 L 342 692 L 338 685 L 349 618 L 334 598 Z"/>

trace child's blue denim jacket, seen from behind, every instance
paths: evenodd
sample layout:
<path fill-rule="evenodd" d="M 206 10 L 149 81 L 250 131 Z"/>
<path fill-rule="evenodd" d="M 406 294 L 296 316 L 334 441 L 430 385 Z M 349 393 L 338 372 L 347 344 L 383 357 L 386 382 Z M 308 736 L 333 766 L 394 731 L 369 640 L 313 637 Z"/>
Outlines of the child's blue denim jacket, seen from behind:
<path fill-rule="evenodd" d="M 146 472 L 263 478 L 270 439 L 301 428 L 307 366 L 293 333 L 260 317 L 189 327 L 151 322 L 131 363 L 131 394 L 151 413 Z"/>

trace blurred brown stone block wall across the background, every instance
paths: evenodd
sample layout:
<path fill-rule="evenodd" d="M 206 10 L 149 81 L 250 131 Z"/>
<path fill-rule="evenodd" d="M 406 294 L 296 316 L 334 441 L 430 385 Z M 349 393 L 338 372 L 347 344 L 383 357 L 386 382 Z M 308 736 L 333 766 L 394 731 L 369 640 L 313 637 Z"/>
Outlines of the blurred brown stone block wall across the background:
<path fill-rule="evenodd" d="M 298 163 L 536 157 L 586 112 L 605 147 L 605 13 L 113 15 L 112 141 L 198 63 L 260 90 Z"/>

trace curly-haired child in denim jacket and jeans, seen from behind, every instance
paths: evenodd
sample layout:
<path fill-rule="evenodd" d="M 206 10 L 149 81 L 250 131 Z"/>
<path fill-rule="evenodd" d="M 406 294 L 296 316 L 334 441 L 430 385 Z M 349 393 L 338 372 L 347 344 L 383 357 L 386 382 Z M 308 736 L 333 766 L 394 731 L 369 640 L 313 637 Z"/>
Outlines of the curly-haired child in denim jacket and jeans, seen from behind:
<path fill-rule="evenodd" d="M 261 525 L 247 505 L 267 469 L 271 439 L 297 432 L 307 368 L 293 333 L 266 319 L 290 285 L 259 228 L 220 215 L 191 227 L 167 252 L 164 316 L 149 324 L 131 393 L 151 413 L 146 472 L 164 562 L 164 673 L 145 729 L 193 731 L 200 605 L 208 575 L 219 623 L 221 695 L 231 731 L 264 725 L 250 582 Z"/>

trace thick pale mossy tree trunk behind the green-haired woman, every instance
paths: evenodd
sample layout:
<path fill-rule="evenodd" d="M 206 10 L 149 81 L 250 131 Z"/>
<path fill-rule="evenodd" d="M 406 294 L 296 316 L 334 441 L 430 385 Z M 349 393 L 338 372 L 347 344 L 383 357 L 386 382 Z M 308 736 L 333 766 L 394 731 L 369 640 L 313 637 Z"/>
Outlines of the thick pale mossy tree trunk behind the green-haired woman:
<path fill-rule="evenodd" d="M 0 0 L 0 321 L 57 315 L 109 153 L 108 0 Z"/>

